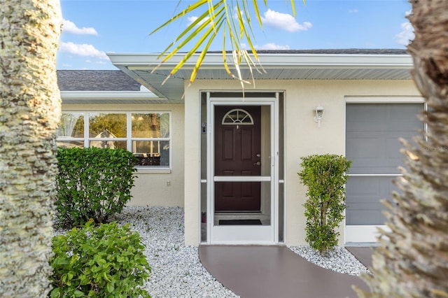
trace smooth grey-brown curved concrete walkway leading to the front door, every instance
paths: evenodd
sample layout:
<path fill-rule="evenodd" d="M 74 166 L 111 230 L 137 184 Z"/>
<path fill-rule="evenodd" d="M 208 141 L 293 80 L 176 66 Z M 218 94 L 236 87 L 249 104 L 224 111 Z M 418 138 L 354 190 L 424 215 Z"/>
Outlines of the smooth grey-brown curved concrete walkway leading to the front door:
<path fill-rule="evenodd" d="M 304 260 L 286 246 L 200 246 L 204 267 L 242 298 L 355 298 L 357 276 Z"/>

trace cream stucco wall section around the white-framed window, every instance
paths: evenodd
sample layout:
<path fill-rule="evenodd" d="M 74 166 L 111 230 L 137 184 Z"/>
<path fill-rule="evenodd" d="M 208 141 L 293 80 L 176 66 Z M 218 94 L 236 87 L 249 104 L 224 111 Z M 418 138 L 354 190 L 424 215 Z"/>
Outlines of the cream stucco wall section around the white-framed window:
<path fill-rule="evenodd" d="M 183 152 L 184 118 L 183 104 L 62 104 L 62 111 L 169 111 L 172 114 L 172 165 L 171 169 L 149 169 L 137 172 L 132 188 L 134 206 L 182 206 L 183 207 Z"/>

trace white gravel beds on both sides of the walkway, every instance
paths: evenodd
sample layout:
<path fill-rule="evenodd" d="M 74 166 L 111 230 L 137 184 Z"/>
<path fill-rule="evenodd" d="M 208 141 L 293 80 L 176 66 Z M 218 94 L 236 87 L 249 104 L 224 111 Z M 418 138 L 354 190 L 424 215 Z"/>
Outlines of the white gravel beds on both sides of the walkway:
<path fill-rule="evenodd" d="M 202 267 L 197 247 L 185 246 L 183 218 L 181 207 L 127 206 L 111 220 L 129 222 L 139 232 L 152 269 L 145 285 L 151 297 L 239 297 Z M 345 248 L 336 248 L 328 257 L 307 246 L 290 250 L 326 269 L 351 275 L 368 272 Z"/>

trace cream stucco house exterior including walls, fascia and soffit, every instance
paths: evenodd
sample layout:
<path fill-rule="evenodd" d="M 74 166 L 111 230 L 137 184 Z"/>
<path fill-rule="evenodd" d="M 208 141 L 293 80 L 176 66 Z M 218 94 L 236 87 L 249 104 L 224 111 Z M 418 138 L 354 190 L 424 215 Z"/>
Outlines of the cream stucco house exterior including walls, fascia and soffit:
<path fill-rule="evenodd" d="M 256 74 L 263 79 L 255 77 L 255 86 L 246 85 L 246 92 L 278 92 L 283 100 L 283 143 L 279 148 L 283 148 L 281 153 L 284 159 L 281 166 L 284 177 L 281 179 L 284 190 L 284 231 L 282 241 L 278 243 L 306 245 L 306 219 L 302 205 L 307 199 L 307 190 L 297 176 L 300 158 L 314 154 L 346 154 L 348 102 L 406 104 L 421 102 L 421 95 L 409 77 L 412 59 L 406 54 L 315 55 L 274 52 L 262 55 L 267 73 Z M 171 64 L 160 66 L 158 73 L 151 72 L 159 64 L 158 55 L 155 54 L 111 54 L 109 57 L 123 73 L 148 87 L 153 92 L 151 98 L 143 92 L 127 92 L 127 98 L 115 104 L 116 100 L 120 100 L 120 95 L 114 92 L 62 92 L 62 109 L 171 113 L 172 157 L 169 169 L 139 169 L 130 204 L 184 207 L 185 243 L 188 246 L 199 246 L 204 243 L 201 241 L 201 230 L 204 228 L 201 211 L 204 211 L 209 195 L 204 195 L 207 188 L 204 180 L 211 179 L 211 176 L 204 177 L 204 169 L 207 168 L 204 161 L 213 160 L 207 159 L 201 149 L 201 142 L 205 138 L 202 133 L 204 119 L 201 119 L 204 113 L 202 94 L 241 92 L 241 85 L 237 80 L 230 80 L 223 71 L 221 54 L 211 55 L 204 61 L 204 70 L 198 73 L 198 78 L 191 85 L 188 82 L 194 65 L 191 63 L 176 73 L 176 78 L 162 83 L 181 55 L 176 55 Z M 74 99 L 83 98 L 88 104 L 70 104 Z M 137 101 L 141 100 L 145 102 L 138 104 Z M 225 100 L 223 97 L 222 101 Z M 314 121 L 316 106 L 325 109 L 320 126 Z M 279 119 L 276 118 L 278 112 L 275 112 L 276 116 L 271 121 Z M 209 126 L 210 123 L 207 123 Z M 274 183 L 280 183 L 279 178 L 276 179 Z M 343 222 L 339 227 L 340 245 L 346 241 L 345 232 Z"/>

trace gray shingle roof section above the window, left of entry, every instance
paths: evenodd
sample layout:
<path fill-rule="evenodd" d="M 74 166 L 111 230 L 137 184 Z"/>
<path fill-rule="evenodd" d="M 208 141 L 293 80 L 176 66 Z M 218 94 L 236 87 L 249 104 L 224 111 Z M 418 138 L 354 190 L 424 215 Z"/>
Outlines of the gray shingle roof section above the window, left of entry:
<path fill-rule="evenodd" d="M 140 84 L 123 71 L 57 71 L 61 91 L 139 91 Z"/>

